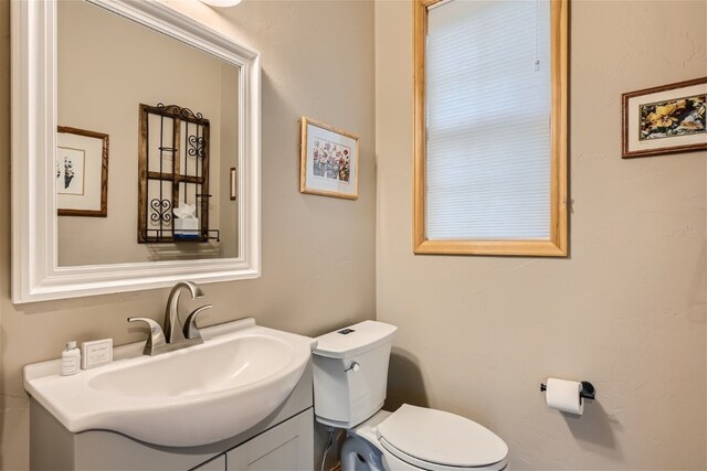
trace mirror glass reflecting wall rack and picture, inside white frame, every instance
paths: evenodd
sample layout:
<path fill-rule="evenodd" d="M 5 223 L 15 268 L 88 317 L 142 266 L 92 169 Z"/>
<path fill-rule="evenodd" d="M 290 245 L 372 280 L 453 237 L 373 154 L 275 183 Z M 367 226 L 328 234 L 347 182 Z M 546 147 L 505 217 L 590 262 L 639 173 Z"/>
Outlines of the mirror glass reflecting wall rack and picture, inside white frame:
<path fill-rule="evenodd" d="M 59 266 L 238 254 L 240 69 L 57 3 Z"/>

